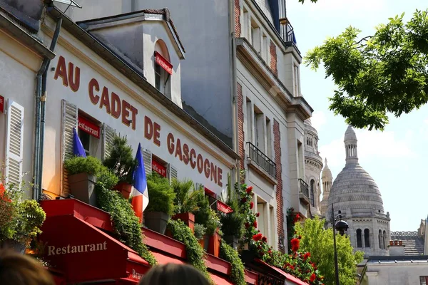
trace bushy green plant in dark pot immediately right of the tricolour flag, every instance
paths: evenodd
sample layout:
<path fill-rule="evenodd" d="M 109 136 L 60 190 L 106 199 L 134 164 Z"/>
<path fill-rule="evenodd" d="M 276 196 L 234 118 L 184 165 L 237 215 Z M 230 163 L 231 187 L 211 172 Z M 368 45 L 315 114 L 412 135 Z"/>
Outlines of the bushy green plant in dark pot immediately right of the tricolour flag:
<path fill-rule="evenodd" d="M 148 175 L 147 188 L 150 200 L 144 211 L 144 224 L 148 229 L 165 234 L 166 224 L 174 210 L 175 193 L 169 181 L 156 172 Z"/>

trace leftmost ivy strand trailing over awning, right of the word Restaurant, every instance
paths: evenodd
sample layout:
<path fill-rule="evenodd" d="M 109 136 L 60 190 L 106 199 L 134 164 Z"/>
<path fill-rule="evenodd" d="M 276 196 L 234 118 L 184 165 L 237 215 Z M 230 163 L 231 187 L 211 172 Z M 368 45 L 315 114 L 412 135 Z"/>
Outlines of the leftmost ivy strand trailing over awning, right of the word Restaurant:
<path fill-rule="evenodd" d="M 140 221 L 128 200 L 123 198 L 119 192 L 106 189 L 101 182 L 96 184 L 96 199 L 98 207 L 111 215 L 116 237 L 123 244 L 138 252 L 151 266 L 156 265 L 155 257 L 146 244 L 143 244 Z"/>

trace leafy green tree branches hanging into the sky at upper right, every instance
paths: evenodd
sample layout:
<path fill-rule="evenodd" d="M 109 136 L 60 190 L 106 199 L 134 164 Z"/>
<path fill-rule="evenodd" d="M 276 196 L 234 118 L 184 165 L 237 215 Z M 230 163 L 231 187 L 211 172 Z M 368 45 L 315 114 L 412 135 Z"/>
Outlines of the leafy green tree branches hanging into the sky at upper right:
<path fill-rule="evenodd" d="M 330 110 L 355 128 L 383 130 L 388 113 L 399 117 L 428 102 L 428 13 L 401 16 L 360 37 L 350 26 L 307 53 L 305 64 L 325 67 L 337 86 Z"/>

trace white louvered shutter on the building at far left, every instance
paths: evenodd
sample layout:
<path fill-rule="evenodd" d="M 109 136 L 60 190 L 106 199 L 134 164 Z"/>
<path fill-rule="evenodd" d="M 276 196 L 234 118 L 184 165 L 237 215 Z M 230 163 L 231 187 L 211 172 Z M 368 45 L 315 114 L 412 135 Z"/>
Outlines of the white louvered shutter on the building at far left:
<path fill-rule="evenodd" d="M 24 107 L 9 100 L 6 130 L 6 183 L 21 187 L 24 147 Z"/>

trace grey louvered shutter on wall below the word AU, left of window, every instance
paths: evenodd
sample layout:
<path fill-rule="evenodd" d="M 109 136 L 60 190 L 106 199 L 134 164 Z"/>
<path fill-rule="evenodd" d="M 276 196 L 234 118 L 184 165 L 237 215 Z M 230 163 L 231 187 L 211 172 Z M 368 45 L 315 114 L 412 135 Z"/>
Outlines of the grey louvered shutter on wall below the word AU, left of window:
<path fill-rule="evenodd" d="M 68 174 L 63 167 L 63 162 L 73 156 L 73 128 L 77 129 L 78 109 L 76 105 L 62 100 L 62 120 L 61 120 L 61 195 L 63 197 L 70 194 L 68 186 Z"/>

